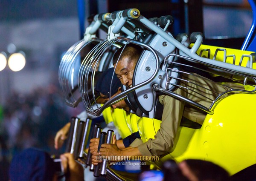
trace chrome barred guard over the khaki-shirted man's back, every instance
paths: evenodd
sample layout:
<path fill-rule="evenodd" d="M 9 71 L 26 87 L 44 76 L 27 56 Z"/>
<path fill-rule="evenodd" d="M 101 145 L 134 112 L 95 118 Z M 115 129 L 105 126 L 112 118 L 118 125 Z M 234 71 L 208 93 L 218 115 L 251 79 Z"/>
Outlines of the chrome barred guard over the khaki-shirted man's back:
<path fill-rule="evenodd" d="M 179 57 L 179 58 L 181 58 L 181 60 L 180 60 L 180 62 L 170 61 L 169 57 Z M 193 66 L 193 65 L 191 66 L 191 65 L 189 65 L 189 63 L 188 64 L 184 63 L 183 60 L 188 60 L 190 62 L 194 62 L 198 66 Z M 177 73 L 181 73 L 181 74 L 189 74 L 189 75 L 197 76 L 198 78 L 207 80 L 210 84 L 219 84 L 220 86 L 223 86 L 225 89 L 227 89 L 227 91 L 224 91 L 224 92 L 213 92 L 212 90 L 204 88 L 202 85 L 200 85 L 198 83 L 190 82 L 190 83 L 192 83 L 192 84 L 194 84 L 198 87 L 201 87 L 201 88 L 205 89 L 208 92 L 212 91 L 213 94 L 217 95 L 215 100 L 211 100 L 207 96 L 204 96 L 204 92 L 200 92 L 199 90 L 197 90 L 197 92 L 196 92 L 195 90 L 190 89 L 191 91 L 193 91 L 195 93 L 195 96 L 196 95 L 201 95 L 205 99 L 208 99 L 209 101 L 212 101 L 212 104 L 211 104 L 210 107 L 205 107 L 200 103 L 196 103 L 196 102 L 194 102 L 194 101 L 192 101 L 188 98 L 185 98 L 181 95 L 178 95 L 175 92 L 172 92 L 172 91 L 168 90 L 169 85 L 176 86 L 177 88 L 189 89 L 187 87 L 180 86 L 179 84 L 176 84 L 176 83 L 171 83 L 170 81 L 166 81 L 165 87 L 160 87 L 158 84 L 154 84 L 154 86 L 153 86 L 154 91 L 163 92 L 166 95 L 170 95 L 172 97 L 175 97 L 177 99 L 185 101 L 186 103 L 192 104 L 193 106 L 207 112 L 208 114 L 213 114 L 213 110 L 211 110 L 213 104 L 216 101 L 218 101 L 221 97 L 223 97 L 224 95 L 231 94 L 231 93 L 238 93 L 238 92 L 244 92 L 244 93 L 255 93 L 256 92 L 256 78 L 254 78 L 253 76 L 250 76 L 250 75 L 245 75 L 245 74 L 238 73 L 238 72 L 235 72 L 235 71 L 232 71 L 232 70 L 229 70 L 229 69 L 224 69 L 224 68 L 221 68 L 221 67 L 218 67 L 218 66 L 211 65 L 209 63 L 202 63 L 201 61 L 192 59 L 191 57 L 185 57 L 183 55 L 177 55 L 177 54 L 170 54 L 170 55 L 166 56 L 165 59 L 164 59 L 164 63 L 165 63 L 164 65 L 165 65 L 165 68 L 166 68 L 166 74 L 168 75 L 166 77 L 167 80 L 171 80 L 171 78 L 175 78 L 179 81 L 181 81 L 181 80 L 182 81 L 188 81 L 188 80 L 184 80 L 182 78 L 173 77 L 170 74 L 170 72 L 177 72 Z M 179 70 L 179 69 L 175 69 L 175 68 L 170 68 L 170 64 L 173 64 L 173 65 L 176 65 L 176 66 L 186 66 L 187 69 L 197 69 L 198 71 L 205 72 L 205 73 L 208 73 L 210 75 L 220 76 L 222 78 L 225 78 L 225 80 L 229 80 L 229 82 L 239 83 L 240 85 L 243 85 L 243 86 L 250 86 L 250 90 L 242 89 L 241 87 L 238 87 L 237 84 L 233 84 L 233 85 L 223 84 L 223 83 L 220 83 L 220 82 L 216 82 L 214 80 L 210 80 L 209 78 L 205 78 L 204 76 L 201 76 L 201 75 L 195 75 L 191 72 L 183 71 L 182 69 Z M 207 69 L 200 68 L 200 65 L 207 66 Z M 218 70 L 220 70 L 220 71 L 218 71 Z M 219 74 L 219 72 L 221 72 L 221 73 Z M 223 72 L 225 72 L 225 75 L 223 75 Z M 240 78 L 240 80 L 238 78 Z"/>

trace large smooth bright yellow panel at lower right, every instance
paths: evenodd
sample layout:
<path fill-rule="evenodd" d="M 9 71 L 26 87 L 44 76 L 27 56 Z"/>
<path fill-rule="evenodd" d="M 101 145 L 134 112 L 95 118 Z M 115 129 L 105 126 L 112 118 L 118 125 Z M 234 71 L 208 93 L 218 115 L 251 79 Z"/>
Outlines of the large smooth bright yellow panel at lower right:
<path fill-rule="evenodd" d="M 207 115 L 183 155 L 212 161 L 231 175 L 256 164 L 256 94 L 236 94 L 220 100 Z"/>

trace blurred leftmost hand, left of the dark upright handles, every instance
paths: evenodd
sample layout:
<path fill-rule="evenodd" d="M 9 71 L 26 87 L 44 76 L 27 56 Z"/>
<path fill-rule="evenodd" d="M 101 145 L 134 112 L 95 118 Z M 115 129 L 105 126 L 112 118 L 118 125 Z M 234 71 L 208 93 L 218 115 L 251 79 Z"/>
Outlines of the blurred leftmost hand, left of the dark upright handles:
<path fill-rule="evenodd" d="M 64 141 L 67 139 L 68 132 L 70 129 L 70 122 L 63 126 L 56 134 L 54 138 L 54 147 L 55 149 L 59 149 L 62 147 Z"/>

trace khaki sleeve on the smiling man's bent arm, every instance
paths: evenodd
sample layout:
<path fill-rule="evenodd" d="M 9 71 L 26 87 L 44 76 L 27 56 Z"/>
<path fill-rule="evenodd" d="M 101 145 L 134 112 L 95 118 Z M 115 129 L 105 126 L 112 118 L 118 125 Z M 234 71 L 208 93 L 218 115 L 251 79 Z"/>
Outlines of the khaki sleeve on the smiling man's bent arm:
<path fill-rule="evenodd" d="M 177 91 L 177 94 L 181 93 L 181 90 L 177 89 Z M 142 155 L 156 156 L 168 152 L 173 147 L 180 125 L 184 102 L 168 95 L 159 96 L 159 100 L 163 104 L 162 123 L 154 139 L 149 139 L 138 146 Z"/>

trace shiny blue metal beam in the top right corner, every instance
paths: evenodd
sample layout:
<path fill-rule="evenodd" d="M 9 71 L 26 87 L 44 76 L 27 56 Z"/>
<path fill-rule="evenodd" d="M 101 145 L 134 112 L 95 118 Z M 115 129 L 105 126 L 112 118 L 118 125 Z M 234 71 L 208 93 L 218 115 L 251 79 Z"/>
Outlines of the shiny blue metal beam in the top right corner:
<path fill-rule="evenodd" d="M 250 6 L 253 10 L 253 22 L 250 27 L 250 31 L 244 40 L 241 50 L 256 52 L 256 0 L 248 0 L 248 2 L 250 3 Z"/>

